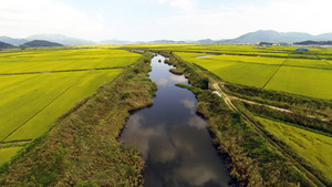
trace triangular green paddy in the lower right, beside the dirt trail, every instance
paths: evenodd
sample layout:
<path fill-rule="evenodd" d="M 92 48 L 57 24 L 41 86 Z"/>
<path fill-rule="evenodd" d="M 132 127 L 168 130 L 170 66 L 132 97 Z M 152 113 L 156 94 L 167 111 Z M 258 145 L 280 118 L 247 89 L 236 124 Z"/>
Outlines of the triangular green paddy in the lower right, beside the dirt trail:
<path fill-rule="evenodd" d="M 290 146 L 314 168 L 332 180 L 332 138 L 283 123 L 257 117 L 274 137 Z"/>

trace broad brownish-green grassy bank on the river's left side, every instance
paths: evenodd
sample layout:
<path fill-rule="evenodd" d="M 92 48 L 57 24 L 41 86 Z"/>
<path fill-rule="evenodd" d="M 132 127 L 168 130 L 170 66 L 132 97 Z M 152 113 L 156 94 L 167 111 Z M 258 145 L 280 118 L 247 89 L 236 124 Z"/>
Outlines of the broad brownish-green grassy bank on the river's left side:
<path fill-rule="evenodd" d="M 144 162 L 136 147 L 122 147 L 118 136 L 128 112 L 153 102 L 151 58 L 144 54 L 104 83 L 2 165 L 0 186 L 141 186 Z"/>

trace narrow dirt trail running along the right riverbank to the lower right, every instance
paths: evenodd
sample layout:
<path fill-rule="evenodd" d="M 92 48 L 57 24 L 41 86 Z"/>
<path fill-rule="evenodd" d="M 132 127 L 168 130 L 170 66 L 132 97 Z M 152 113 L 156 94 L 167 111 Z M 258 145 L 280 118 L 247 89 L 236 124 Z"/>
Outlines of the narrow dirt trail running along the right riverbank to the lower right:
<path fill-rule="evenodd" d="M 225 101 L 225 103 L 235 112 L 239 112 L 239 110 L 231 103 L 231 100 L 229 96 L 221 90 L 221 87 L 218 85 L 218 83 L 214 83 L 212 87 L 219 92 Z M 263 129 L 255 124 L 255 122 L 250 121 L 249 117 L 247 117 L 245 114 L 242 114 L 242 117 L 245 122 L 249 123 L 252 127 L 255 127 L 255 131 L 263 136 L 271 145 L 274 147 L 278 152 L 280 152 L 281 155 L 287 157 L 298 170 L 305 174 L 305 176 L 311 180 L 312 184 L 315 184 L 318 186 L 325 186 L 314 174 L 312 174 L 310 170 L 308 170 L 304 166 L 302 166 L 297 159 L 294 159 L 286 149 L 283 149 L 278 143 L 276 143 L 273 139 L 271 139 L 269 136 L 266 135 Z"/>

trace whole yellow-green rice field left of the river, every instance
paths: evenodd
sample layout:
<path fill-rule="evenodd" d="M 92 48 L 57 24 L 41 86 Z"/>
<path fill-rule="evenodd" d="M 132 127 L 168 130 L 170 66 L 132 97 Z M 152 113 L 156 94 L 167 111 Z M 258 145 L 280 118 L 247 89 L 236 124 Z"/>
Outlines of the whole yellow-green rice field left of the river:
<path fill-rule="evenodd" d="M 1 52 L 0 143 L 44 134 L 56 118 L 139 58 L 106 48 Z M 0 164 L 18 149 L 0 149 Z"/>

